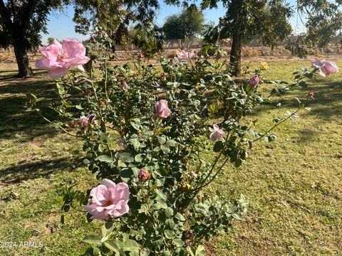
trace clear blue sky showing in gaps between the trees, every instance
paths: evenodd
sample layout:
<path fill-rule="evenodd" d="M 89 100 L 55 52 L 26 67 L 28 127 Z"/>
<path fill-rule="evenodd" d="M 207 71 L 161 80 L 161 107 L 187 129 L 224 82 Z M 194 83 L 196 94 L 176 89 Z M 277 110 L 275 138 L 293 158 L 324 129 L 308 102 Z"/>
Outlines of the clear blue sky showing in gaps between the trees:
<path fill-rule="evenodd" d="M 296 0 L 289 0 L 291 4 L 295 4 Z M 167 16 L 172 14 L 178 14 L 182 8 L 177 6 L 167 6 L 165 4 L 160 4 L 160 10 L 157 11 L 156 23 L 162 25 Z M 204 18 L 206 22 L 214 21 L 217 22 L 219 17 L 224 16 L 224 9 L 222 5 L 219 5 L 218 9 L 208 9 L 204 10 Z M 63 38 L 76 38 L 78 40 L 87 39 L 88 36 L 83 36 L 78 34 L 74 30 L 75 23 L 73 23 L 73 7 L 68 6 L 66 10 L 62 13 L 56 12 L 49 16 L 48 22 L 48 34 L 42 34 L 43 44 L 47 43 L 48 37 L 54 37 L 58 39 Z M 296 28 L 296 33 L 301 33 L 304 31 L 304 26 L 301 24 L 300 20 L 297 22 L 296 14 L 291 18 L 292 27 Z"/>

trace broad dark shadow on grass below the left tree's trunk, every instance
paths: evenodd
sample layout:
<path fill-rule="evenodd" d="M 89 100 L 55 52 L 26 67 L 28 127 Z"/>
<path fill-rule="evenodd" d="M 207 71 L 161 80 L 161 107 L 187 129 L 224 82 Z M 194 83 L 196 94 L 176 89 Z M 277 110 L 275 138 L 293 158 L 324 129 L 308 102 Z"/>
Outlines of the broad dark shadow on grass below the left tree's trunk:
<path fill-rule="evenodd" d="M 12 80 L 0 85 L 0 139 L 19 139 L 19 142 L 27 142 L 41 135 L 53 137 L 56 134 L 56 129 L 48 125 L 38 114 L 26 112 L 28 92 L 37 97 L 58 97 L 56 86 L 51 80 Z M 47 114 L 53 119 L 53 113 Z"/>

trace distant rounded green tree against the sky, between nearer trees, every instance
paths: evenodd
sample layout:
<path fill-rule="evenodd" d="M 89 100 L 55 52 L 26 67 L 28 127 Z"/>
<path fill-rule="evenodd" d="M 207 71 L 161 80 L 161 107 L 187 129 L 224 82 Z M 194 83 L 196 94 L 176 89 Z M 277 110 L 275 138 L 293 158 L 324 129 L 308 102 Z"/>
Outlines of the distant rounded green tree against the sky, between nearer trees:
<path fill-rule="evenodd" d="M 178 15 L 168 16 L 162 30 L 167 39 L 190 38 L 202 33 L 204 23 L 203 12 L 195 4 L 182 10 Z"/>

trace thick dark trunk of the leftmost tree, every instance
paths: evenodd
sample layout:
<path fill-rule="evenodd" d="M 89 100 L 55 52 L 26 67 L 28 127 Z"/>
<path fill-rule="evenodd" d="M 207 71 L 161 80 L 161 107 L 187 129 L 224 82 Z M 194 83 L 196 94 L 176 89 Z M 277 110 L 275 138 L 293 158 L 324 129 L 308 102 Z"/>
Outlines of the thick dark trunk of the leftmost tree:
<path fill-rule="evenodd" d="M 24 43 L 21 43 L 20 41 L 14 42 L 14 54 L 16 55 L 16 64 L 18 65 L 19 70 L 17 77 L 28 78 L 33 76 L 33 71 L 28 62 L 27 50 Z"/>

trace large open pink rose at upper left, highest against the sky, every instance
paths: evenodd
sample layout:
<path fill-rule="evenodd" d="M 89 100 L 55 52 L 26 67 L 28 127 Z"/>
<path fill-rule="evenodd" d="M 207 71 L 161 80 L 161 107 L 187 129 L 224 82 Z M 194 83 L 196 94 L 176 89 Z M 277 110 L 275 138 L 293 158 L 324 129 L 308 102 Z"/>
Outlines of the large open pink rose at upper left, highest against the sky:
<path fill-rule="evenodd" d="M 51 45 L 41 48 L 46 58 L 36 60 L 36 68 L 48 70 L 50 78 L 61 78 L 68 73 L 68 68 L 76 66 L 84 72 L 83 64 L 90 60 L 81 41 L 63 39 L 59 43 L 53 39 Z"/>

